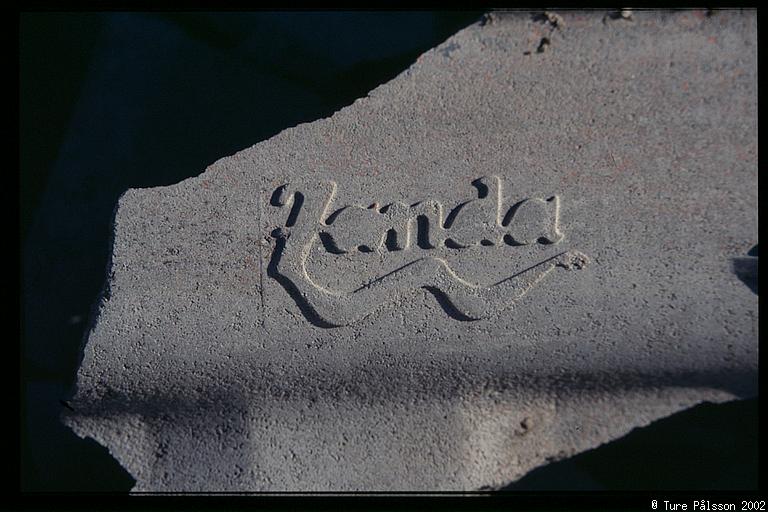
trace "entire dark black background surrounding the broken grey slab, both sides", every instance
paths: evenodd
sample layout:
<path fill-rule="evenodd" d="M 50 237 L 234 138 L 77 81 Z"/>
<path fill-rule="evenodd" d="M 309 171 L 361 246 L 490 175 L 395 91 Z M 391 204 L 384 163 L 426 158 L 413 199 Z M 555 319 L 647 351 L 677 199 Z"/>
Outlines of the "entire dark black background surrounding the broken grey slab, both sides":
<path fill-rule="evenodd" d="M 481 14 L 21 13 L 22 490 L 133 485 L 58 422 L 120 194 L 328 117 Z M 757 410 L 703 404 L 509 489 L 754 489 Z"/>

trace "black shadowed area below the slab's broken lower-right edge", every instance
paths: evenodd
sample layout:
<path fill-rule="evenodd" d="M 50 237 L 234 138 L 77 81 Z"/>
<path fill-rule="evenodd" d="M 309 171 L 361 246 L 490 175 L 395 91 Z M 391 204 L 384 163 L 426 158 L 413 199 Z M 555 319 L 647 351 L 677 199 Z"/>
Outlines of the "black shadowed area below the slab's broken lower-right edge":
<path fill-rule="evenodd" d="M 758 401 L 700 404 L 501 491 L 757 490 Z"/>

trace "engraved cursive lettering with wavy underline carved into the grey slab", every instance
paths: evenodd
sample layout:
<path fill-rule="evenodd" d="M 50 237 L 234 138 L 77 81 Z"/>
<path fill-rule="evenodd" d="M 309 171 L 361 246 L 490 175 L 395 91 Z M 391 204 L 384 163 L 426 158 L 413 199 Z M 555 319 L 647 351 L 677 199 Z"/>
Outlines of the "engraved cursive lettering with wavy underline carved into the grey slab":
<path fill-rule="evenodd" d="M 490 285 L 471 283 L 458 275 L 435 249 L 548 246 L 563 239 L 558 196 L 525 199 L 504 211 L 500 178 L 479 178 L 472 185 L 477 197 L 447 216 L 442 203 L 434 200 L 346 205 L 334 210 L 337 185 L 332 181 L 278 187 L 270 204 L 288 214 L 284 226 L 272 232 L 277 247 L 268 274 L 286 288 L 308 319 L 322 327 L 338 327 L 420 288 L 435 295 L 446 312 L 459 320 L 488 318 L 511 307 L 554 269 L 580 269 L 587 264 L 584 254 L 571 250 Z M 399 251 L 413 257 L 344 292 L 322 286 L 307 271 L 307 260 L 318 245 L 337 257 Z"/>

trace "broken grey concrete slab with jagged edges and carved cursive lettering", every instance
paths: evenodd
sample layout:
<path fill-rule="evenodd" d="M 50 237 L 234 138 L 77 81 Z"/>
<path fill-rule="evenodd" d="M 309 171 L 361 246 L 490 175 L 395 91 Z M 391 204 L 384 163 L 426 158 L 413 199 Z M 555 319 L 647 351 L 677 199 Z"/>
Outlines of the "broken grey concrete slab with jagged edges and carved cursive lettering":
<path fill-rule="evenodd" d="M 472 490 L 756 394 L 756 43 L 495 13 L 128 191 L 64 421 L 134 491 Z"/>

